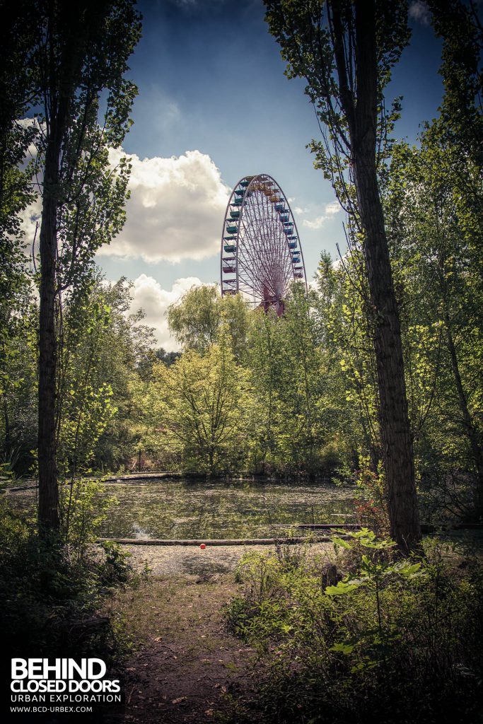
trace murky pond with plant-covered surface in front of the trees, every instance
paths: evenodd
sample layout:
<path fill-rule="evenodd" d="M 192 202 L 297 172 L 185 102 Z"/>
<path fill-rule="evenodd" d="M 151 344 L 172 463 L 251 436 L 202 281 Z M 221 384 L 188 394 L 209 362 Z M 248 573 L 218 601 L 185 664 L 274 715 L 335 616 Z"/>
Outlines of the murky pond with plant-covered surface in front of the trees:
<path fill-rule="evenodd" d="M 343 523 L 353 489 L 331 483 L 141 479 L 104 484 L 114 496 L 106 538 L 266 538 L 295 523 Z M 25 505 L 33 492 L 12 493 Z"/>

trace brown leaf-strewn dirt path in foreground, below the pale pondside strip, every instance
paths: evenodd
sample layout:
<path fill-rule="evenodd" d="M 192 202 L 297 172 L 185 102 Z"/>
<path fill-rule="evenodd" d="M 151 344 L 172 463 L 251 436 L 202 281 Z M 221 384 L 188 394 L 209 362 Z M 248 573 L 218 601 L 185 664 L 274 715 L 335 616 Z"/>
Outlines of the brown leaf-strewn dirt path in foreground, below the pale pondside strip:
<path fill-rule="evenodd" d="M 236 591 L 232 575 L 152 578 L 112 605 L 135 653 L 127 662 L 125 721 L 213 722 L 226 691 L 248 685 L 253 649 L 224 628 L 222 606 Z"/>

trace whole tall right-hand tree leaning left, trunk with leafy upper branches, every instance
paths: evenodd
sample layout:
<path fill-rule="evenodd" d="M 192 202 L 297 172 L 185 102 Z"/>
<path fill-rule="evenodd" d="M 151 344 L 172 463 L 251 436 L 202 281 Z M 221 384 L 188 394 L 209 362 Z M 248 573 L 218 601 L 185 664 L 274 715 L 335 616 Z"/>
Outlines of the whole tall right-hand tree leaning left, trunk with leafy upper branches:
<path fill-rule="evenodd" d="M 400 319 L 378 179 L 387 131 L 398 111 L 386 113 L 382 93 L 408 42 L 406 8 L 375 0 L 266 0 L 266 7 L 287 74 L 306 79 L 306 94 L 327 128 L 324 143 L 312 144 L 317 161 L 362 237 L 391 534 L 407 552 L 420 538 L 419 515 Z"/>

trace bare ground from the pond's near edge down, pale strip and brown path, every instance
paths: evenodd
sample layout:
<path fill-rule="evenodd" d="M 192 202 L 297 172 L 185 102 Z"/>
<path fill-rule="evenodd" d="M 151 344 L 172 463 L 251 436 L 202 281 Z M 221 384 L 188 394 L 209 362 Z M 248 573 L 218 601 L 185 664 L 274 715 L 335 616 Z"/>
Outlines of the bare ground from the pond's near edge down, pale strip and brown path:
<path fill-rule="evenodd" d="M 256 652 L 227 632 L 223 607 L 237 593 L 243 546 L 125 546 L 138 588 L 109 602 L 132 653 L 125 663 L 126 724 L 209 724 L 224 695 L 251 693 Z M 274 550 L 250 546 L 250 550 Z"/>

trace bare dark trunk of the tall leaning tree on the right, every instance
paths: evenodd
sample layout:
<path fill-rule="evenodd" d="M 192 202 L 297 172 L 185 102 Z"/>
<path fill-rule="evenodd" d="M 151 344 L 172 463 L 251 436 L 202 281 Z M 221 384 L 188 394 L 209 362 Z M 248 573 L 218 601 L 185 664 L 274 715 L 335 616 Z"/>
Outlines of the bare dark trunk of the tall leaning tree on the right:
<path fill-rule="evenodd" d="M 376 166 L 377 55 L 374 1 L 356 1 L 357 102 L 350 138 L 374 316 L 379 418 L 391 535 L 408 551 L 421 537 L 403 346 Z"/>

